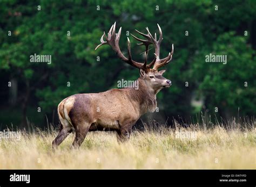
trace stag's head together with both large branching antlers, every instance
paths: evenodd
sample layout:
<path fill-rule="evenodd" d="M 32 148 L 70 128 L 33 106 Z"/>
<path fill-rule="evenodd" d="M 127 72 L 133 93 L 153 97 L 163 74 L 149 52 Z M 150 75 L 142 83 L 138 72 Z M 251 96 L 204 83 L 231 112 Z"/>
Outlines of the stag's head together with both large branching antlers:
<path fill-rule="evenodd" d="M 173 44 L 172 44 L 172 51 L 169 53 L 168 56 L 166 56 L 164 59 L 160 59 L 160 44 L 161 41 L 163 40 L 163 33 L 161 31 L 160 26 L 157 24 L 158 29 L 159 29 L 159 39 L 157 40 L 157 34 L 154 33 L 154 37 L 149 31 L 149 28 L 146 27 L 147 34 L 144 34 L 142 32 L 138 32 L 139 34 L 143 35 L 145 39 L 140 39 L 132 35 L 133 38 L 136 40 L 142 42 L 138 45 L 144 45 L 146 47 L 146 51 L 144 53 L 145 60 L 144 62 L 136 62 L 132 60 L 132 55 L 131 55 L 131 44 L 130 40 L 127 37 L 127 51 L 128 51 L 128 58 L 124 56 L 124 54 L 121 52 L 120 47 L 119 47 L 119 39 L 121 35 L 121 30 L 122 27 L 119 28 L 118 33 L 116 33 L 116 22 L 111 26 L 110 31 L 107 33 L 107 35 L 104 34 L 102 35 L 102 38 L 100 38 L 101 44 L 99 44 L 97 48 L 99 48 L 102 45 L 110 45 L 113 49 L 114 52 L 116 52 L 117 56 L 122 59 L 124 62 L 130 64 L 131 66 L 138 68 L 140 72 L 140 78 L 145 81 L 146 85 L 148 85 L 150 88 L 152 88 L 155 92 L 158 92 L 162 88 L 165 87 L 170 87 L 171 81 L 167 80 L 166 78 L 163 77 L 163 74 L 166 69 L 164 70 L 159 70 L 160 67 L 165 66 L 172 60 L 172 55 L 174 52 Z M 105 40 L 104 40 L 105 38 Z M 147 64 L 147 54 L 149 53 L 149 45 L 153 45 L 155 52 L 154 52 L 154 59 Z"/>

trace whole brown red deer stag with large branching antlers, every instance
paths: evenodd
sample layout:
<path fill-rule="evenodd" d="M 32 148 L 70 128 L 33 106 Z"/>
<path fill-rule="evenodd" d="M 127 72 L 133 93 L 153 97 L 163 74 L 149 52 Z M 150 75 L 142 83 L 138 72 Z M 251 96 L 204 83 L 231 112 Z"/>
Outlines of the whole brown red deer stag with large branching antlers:
<path fill-rule="evenodd" d="M 163 88 L 169 88 L 171 81 L 163 77 L 166 69 L 159 70 L 172 60 L 172 51 L 164 58 L 160 59 L 160 44 L 163 34 L 160 26 L 159 39 L 157 34 L 154 37 L 146 27 L 147 34 L 139 32 L 144 39 L 134 36 L 138 40 L 138 45 L 144 45 L 144 62 L 137 62 L 132 59 L 131 44 L 127 37 L 126 57 L 119 47 L 119 39 L 122 27 L 116 33 L 116 22 L 111 26 L 107 35 L 105 31 L 100 38 L 98 49 L 103 45 L 110 45 L 117 56 L 125 63 L 139 69 L 138 89 L 121 88 L 110 89 L 99 93 L 78 93 L 62 100 L 58 105 L 58 117 L 60 129 L 55 140 L 52 141 L 52 149 L 55 150 L 60 143 L 72 132 L 75 131 L 75 140 L 72 147 L 79 148 L 83 143 L 87 132 L 90 131 L 116 131 L 117 141 L 124 142 L 130 139 L 132 127 L 136 121 L 147 112 L 154 112 L 157 108 L 157 93 Z M 104 40 L 105 39 L 105 40 Z M 149 46 L 154 46 L 154 59 L 147 64 Z"/>

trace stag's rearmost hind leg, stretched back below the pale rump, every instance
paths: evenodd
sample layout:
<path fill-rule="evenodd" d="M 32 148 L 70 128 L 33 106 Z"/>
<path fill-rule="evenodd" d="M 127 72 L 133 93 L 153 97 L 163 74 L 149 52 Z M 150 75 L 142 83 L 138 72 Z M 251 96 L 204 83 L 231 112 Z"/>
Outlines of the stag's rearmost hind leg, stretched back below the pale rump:
<path fill-rule="evenodd" d="M 60 131 L 57 137 L 52 141 L 52 149 L 55 150 L 60 143 L 72 132 L 72 126 L 68 120 L 60 118 Z"/>

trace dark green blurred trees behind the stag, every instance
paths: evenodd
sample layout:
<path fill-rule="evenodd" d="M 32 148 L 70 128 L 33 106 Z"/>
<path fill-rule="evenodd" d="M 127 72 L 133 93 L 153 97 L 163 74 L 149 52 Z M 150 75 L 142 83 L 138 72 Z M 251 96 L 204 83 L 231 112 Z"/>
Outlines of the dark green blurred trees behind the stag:
<path fill-rule="evenodd" d="M 158 93 L 159 112 L 145 120 L 197 123 L 201 113 L 254 120 L 256 1 L 1 0 L 1 128 L 57 124 L 57 105 L 65 97 L 117 88 L 122 78 L 136 80 L 138 69 L 119 60 L 111 47 L 95 51 L 114 21 L 122 26 L 120 48 L 126 53 L 129 37 L 138 61 L 144 47 L 130 36 L 135 29 L 146 33 L 147 26 L 158 34 L 161 26 L 160 57 L 174 44 L 164 75 L 172 87 Z M 33 54 L 51 55 L 51 64 L 31 63 Z M 209 54 L 227 55 L 227 63 L 206 63 Z"/>

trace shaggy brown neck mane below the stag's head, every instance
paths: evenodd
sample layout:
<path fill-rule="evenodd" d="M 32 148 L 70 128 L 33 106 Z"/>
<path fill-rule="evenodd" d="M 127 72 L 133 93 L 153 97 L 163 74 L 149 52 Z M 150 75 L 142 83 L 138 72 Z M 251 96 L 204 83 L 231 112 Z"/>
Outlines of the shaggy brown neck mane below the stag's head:
<path fill-rule="evenodd" d="M 157 107 L 156 92 L 149 88 L 142 78 L 138 78 L 137 81 L 139 82 L 138 90 L 134 88 L 129 89 L 131 99 L 138 102 L 142 114 L 154 112 Z"/>

